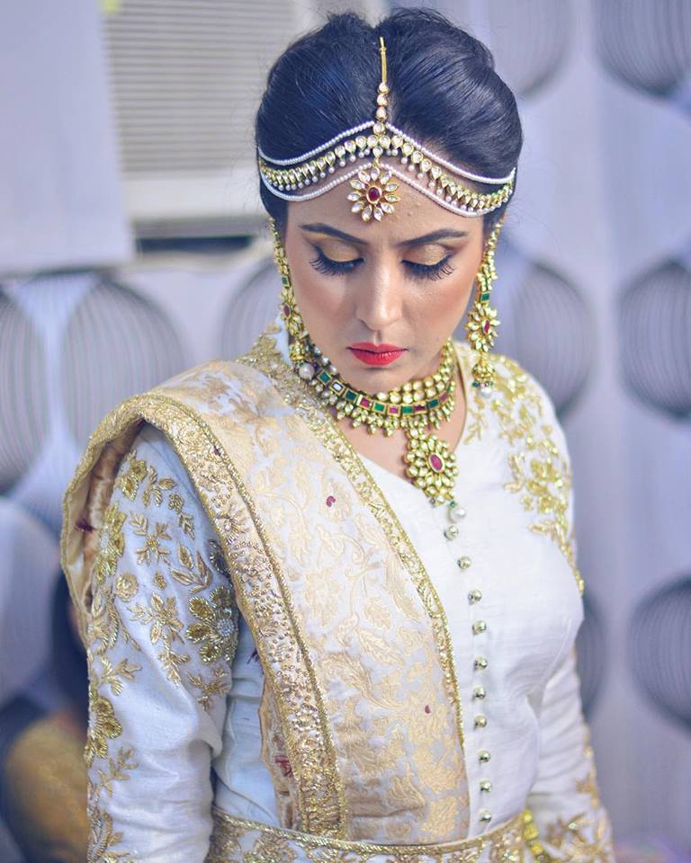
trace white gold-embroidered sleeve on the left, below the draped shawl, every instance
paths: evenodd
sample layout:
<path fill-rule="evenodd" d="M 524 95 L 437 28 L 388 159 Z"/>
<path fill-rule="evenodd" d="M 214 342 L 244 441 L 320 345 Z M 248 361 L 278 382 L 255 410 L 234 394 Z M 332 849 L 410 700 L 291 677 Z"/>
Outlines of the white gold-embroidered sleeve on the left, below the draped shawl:
<path fill-rule="evenodd" d="M 238 611 L 220 547 L 162 432 L 123 459 L 88 627 L 89 863 L 202 863 Z"/>

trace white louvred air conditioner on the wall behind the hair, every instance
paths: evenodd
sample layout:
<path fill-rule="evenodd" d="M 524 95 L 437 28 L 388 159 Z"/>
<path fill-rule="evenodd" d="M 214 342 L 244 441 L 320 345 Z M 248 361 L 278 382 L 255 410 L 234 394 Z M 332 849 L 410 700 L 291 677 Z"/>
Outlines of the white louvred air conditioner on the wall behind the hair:
<path fill-rule="evenodd" d="M 274 58 L 339 8 L 384 0 L 102 0 L 121 170 L 138 236 L 248 234 L 263 221 L 253 120 Z"/>

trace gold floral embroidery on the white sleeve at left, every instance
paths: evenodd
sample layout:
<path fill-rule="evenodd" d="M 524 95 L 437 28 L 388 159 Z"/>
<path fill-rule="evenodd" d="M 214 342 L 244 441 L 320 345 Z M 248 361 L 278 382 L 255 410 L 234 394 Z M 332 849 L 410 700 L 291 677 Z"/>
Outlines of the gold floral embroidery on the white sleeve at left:
<path fill-rule="evenodd" d="M 145 486 L 143 483 L 147 478 L 148 484 Z M 136 458 L 136 450 L 132 449 L 123 459 L 113 487 L 119 488 L 122 495 L 132 501 L 136 499 L 139 490 L 143 489 L 142 499 L 146 498 L 147 505 L 154 503 L 160 506 L 164 492 L 175 485 L 171 478 L 159 479 L 157 471 L 144 459 Z M 184 512 L 182 496 L 171 494 L 168 509 L 177 513 L 178 524 L 184 534 L 193 538 L 192 516 Z M 115 784 L 127 780 L 130 771 L 137 767 L 131 749 L 121 747 L 115 756 L 110 754 L 109 742 L 121 736 L 122 725 L 111 699 L 103 694 L 103 688 L 109 687 L 114 696 L 120 695 L 123 686 L 134 680 L 136 672 L 142 667 L 131 662 L 128 657 L 119 658 L 117 663 L 113 663 L 109 656 L 109 652 L 121 637 L 125 644 L 139 650 L 139 645 L 123 625 L 116 603 L 116 600 L 119 600 L 129 604 L 139 592 L 139 581 L 135 574 L 118 572 L 118 565 L 125 551 L 125 522 L 126 513 L 121 512 L 118 503 L 111 503 L 104 512 L 99 536 L 100 545 L 94 561 L 92 613 L 86 627 L 91 682 L 85 763 L 91 768 L 94 761 L 103 762 L 103 766 L 99 764 L 97 774 L 90 774 L 88 784 L 91 827 L 89 860 L 92 863 L 134 863 L 129 851 L 118 850 L 124 841 L 123 833 L 114 829 L 112 816 L 103 807 L 103 798 L 112 796 Z M 157 523 L 153 530 L 149 530 L 148 519 L 136 514 L 131 515 L 129 523 L 134 528 L 133 533 L 145 539 L 144 547 L 136 549 L 139 564 L 156 563 L 169 566 L 170 550 L 166 547 L 166 541 L 170 540 L 170 536 L 166 525 Z M 184 549 L 179 556 L 185 565 L 191 565 L 192 555 L 189 550 Z M 203 562 L 201 555 L 198 556 L 197 568 L 198 574 L 185 574 L 184 579 L 181 577 L 182 573 L 176 573 L 178 580 L 188 583 L 192 593 L 200 592 L 211 584 L 211 570 Z M 154 574 L 153 582 L 159 590 L 166 587 L 166 577 L 161 570 Z M 132 620 L 138 620 L 149 628 L 151 643 L 162 645 L 158 658 L 166 669 L 168 679 L 178 684 L 181 680 L 180 667 L 189 662 L 190 657 L 174 650 L 174 643 L 183 641 L 183 623 L 177 613 L 175 597 L 154 593 L 148 604 L 137 603 L 130 607 L 130 612 Z M 212 668 L 208 678 L 201 673 L 190 672 L 188 680 L 191 688 L 198 690 L 197 702 L 207 712 L 211 710 L 215 698 L 224 696 L 229 689 L 227 674 L 220 666 Z M 93 781 L 94 775 L 98 776 L 98 781 Z"/>

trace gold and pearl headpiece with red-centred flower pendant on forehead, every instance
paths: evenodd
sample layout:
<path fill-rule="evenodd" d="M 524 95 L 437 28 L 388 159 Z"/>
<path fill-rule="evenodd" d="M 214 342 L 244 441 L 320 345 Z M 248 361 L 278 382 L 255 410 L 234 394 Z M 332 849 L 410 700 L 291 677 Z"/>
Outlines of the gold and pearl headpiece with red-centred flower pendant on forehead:
<path fill-rule="evenodd" d="M 283 200 L 310 200 L 350 181 L 348 200 L 364 222 L 381 221 L 394 211 L 400 200 L 399 183 L 407 182 L 417 191 L 461 216 L 484 216 L 501 207 L 514 191 L 516 168 L 506 177 L 484 177 L 447 162 L 389 121 L 386 46 L 380 36 L 381 83 L 377 92 L 374 120 L 346 129 L 335 138 L 292 159 L 274 159 L 260 148 L 259 172 L 269 191 Z M 369 131 L 368 131 L 369 130 Z M 380 165 L 382 156 L 398 159 L 402 168 Z M 333 180 L 330 174 L 348 163 L 365 160 Z M 464 185 L 461 177 L 500 186 L 497 191 L 480 192 Z M 327 181 L 327 182 L 324 182 Z M 316 186 L 317 188 L 310 188 Z M 309 190 L 309 191 L 302 191 Z"/>

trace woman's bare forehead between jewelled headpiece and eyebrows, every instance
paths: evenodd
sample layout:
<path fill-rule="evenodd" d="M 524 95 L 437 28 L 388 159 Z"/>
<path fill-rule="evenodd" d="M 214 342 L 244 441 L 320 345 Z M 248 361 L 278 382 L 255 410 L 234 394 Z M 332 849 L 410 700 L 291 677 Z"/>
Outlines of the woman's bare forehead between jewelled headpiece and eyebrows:
<path fill-rule="evenodd" d="M 389 164 L 400 168 L 394 159 L 381 159 L 382 169 Z M 352 164 L 339 168 L 327 182 L 337 180 L 344 174 L 351 173 L 353 169 Z M 357 174 L 354 174 L 353 179 L 357 179 Z M 327 224 L 351 236 L 361 237 L 367 243 L 386 242 L 391 245 L 444 228 L 467 232 L 470 236 L 481 232 L 481 216 L 454 213 L 395 174 L 391 181 L 398 183 L 395 194 L 399 200 L 393 204 L 394 211 L 385 213 L 381 221 L 372 218 L 365 222 L 360 213 L 352 211 L 354 201 L 348 200 L 348 195 L 353 193 L 354 189 L 350 180 L 346 180 L 309 200 L 290 201 L 288 225 Z"/>

